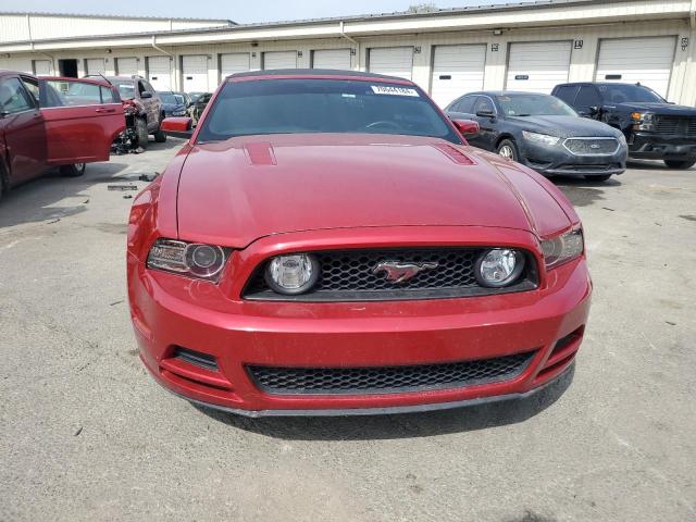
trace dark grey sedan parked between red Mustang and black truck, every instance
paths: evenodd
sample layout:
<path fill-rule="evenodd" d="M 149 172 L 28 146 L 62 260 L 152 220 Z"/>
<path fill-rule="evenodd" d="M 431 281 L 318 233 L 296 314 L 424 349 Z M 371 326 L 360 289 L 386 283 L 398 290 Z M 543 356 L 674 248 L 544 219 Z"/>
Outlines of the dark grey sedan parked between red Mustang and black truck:
<path fill-rule="evenodd" d="M 583 119 L 564 102 L 532 92 L 472 92 L 446 109 L 452 120 L 475 120 L 481 132 L 468 136 L 475 147 L 498 152 L 545 176 L 585 176 L 606 181 L 625 170 L 623 134 Z"/>

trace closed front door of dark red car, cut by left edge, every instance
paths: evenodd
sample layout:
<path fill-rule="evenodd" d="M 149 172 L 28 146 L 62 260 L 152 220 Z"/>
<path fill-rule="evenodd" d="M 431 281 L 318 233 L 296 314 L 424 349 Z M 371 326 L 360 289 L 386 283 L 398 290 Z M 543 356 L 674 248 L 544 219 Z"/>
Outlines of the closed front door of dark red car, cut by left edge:
<path fill-rule="evenodd" d="M 20 76 L 0 78 L 0 154 L 10 185 L 38 176 L 46 169 L 46 127 L 38 100 Z"/>

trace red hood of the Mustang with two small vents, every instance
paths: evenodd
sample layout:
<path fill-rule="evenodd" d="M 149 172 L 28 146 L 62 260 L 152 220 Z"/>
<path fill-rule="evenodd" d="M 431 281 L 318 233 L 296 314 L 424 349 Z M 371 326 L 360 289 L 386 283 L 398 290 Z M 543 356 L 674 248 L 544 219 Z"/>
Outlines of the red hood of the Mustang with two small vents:
<path fill-rule="evenodd" d="M 534 201 L 526 201 L 504 173 L 524 167 L 476 150 L 388 135 L 273 135 L 196 145 L 179 177 L 179 237 L 241 248 L 271 234 L 320 228 L 538 232 L 549 219 L 557 228 L 570 224 L 548 190 L 533 183 Z M 530 207 L 543 209 L 540 220 Z"/>

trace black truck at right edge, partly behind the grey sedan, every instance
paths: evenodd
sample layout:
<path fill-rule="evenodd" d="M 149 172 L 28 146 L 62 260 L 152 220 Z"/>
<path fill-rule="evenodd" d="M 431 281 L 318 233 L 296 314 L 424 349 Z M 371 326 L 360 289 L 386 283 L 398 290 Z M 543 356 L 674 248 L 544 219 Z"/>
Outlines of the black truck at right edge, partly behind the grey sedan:
<path fill-rule="evenodd" d="M 563 84 L 551 94 L 580 115 L 620 129 L 631 158 L 663 160 L 671 169 L 696 163 L 696 109 L 669 103 L 641 84 Z"/>

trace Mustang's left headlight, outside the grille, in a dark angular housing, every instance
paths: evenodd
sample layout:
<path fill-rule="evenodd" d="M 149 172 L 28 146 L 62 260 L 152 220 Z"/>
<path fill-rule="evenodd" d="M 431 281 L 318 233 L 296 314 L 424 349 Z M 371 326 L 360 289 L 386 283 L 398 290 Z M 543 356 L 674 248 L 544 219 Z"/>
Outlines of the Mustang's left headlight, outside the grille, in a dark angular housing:
<path fill-rule="evenodd" d="M 165 270 L 217 282 L 229 250 L 213 245 L 158 239 L 148 254 L 148 269 Z"/>

